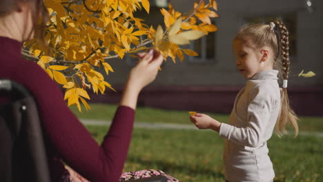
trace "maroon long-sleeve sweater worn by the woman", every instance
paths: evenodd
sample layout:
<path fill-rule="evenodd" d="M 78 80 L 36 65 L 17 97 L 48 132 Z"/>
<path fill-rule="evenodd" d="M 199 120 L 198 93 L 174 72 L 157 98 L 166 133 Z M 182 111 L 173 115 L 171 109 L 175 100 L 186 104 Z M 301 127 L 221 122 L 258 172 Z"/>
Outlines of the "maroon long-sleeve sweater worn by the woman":
<path fill-rule="evenodd" d="M 94 182 L 119 181 L 133 132 L 135 110 L 119 106 L 99 145 L 63 101 L 63 93 L 37 63 L 21 57 L 22 43 L 0 37 L 0 79 L 11 79 L 32 92 L 37 102 L 45 134 L 50 173 L 61 181 L 64 161 L 82 176 Z M 0 101 L 3 103 L 4 99 Z"/>

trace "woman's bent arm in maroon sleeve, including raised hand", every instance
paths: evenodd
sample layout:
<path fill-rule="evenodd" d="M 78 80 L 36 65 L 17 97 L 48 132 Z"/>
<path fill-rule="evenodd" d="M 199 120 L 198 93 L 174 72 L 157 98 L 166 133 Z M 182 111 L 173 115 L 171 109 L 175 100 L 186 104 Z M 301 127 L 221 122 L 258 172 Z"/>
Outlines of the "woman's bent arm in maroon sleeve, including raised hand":
<path fill-rule="evenodd" d="M 19 79 L 34 94 L 46 141 L 55 152 L 86 179 L 115 182 L 128 154 L 137 95 L 141 88 L 155 79 L 162 61 L 162 57 L 153 61 L 142 59 L 130 72 L 121 106 L 101 145 L 67 107 L 57 84 L 37 64 L 28 62 Z"/>

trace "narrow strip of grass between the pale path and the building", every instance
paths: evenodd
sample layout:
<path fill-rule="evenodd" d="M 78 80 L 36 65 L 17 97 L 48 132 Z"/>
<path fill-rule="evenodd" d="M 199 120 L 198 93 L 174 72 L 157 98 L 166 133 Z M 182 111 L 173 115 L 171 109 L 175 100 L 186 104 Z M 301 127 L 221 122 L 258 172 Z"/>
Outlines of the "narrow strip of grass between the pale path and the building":
<path fill-rule="evenodd" d="M 117 105 L 90 104 L 91 110 L 82 113 L 76 107 L 72 111 L 81 119 L 112 120 Z M 209 114 L 220 122 L 228 121 L 228 114 Z M 190 124 L 187 111 L 161 110 L 154 108 L 137 108 L 135 121 L 148 123 L 181 123 Z M 323 117 L 300 117 L 300 131 L 323 132 Z"/>

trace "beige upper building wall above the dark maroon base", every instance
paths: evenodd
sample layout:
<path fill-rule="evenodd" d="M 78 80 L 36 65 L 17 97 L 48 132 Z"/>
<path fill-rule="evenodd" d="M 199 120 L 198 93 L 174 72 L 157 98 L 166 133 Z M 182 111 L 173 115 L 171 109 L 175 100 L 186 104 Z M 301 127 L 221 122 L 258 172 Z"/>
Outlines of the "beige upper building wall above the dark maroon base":
<path fill-rule="evenodd" d="M 180 12 L 187 12 L 195 0 L 172 0 Z M 231 40 L 246 17 L 297 13 L 297 57 L 291 63 L 292 74 L 302 69 L 317 73 L 311 79 L 291 77 L 291 85 L 323 85 L 323 1 L 313 1 L 315 11 L 309 13 L 303 0 L 218 0 L 219 28 L 216 34 L 216 57 L 205 63 L 192 63 L 187 59 L 176 64 L 168 61 L 153 85 L 243 85 L 244 79 L 235 71 L 235 57 Z M 150 12 L 148 21 L 157 24 L 161 21 L 158 10 Z M 148 23 L 149 24 L 149 23 Z M 126 81 L 130 66 L 126 60 L 109 61 L 115 69 L 108 81 L 122 85 Z"/>

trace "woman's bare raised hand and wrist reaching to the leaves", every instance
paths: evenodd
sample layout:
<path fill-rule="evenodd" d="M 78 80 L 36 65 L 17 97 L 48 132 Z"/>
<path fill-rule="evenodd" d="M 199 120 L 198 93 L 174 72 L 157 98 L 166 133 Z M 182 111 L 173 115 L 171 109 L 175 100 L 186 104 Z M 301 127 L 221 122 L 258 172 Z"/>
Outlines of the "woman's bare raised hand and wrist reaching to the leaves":
<path fill-rule="evenodd" d="M 153 49 L 148 53 L 139 53 L 138 57 L 141 59 L 130 71 L 124 94 L 120 101 L 120 105 L 126 105 L 133 109 L 136 108 L 139 92 L 155 80 L 158 68 L 164 60 L 164 57 Z"/>

